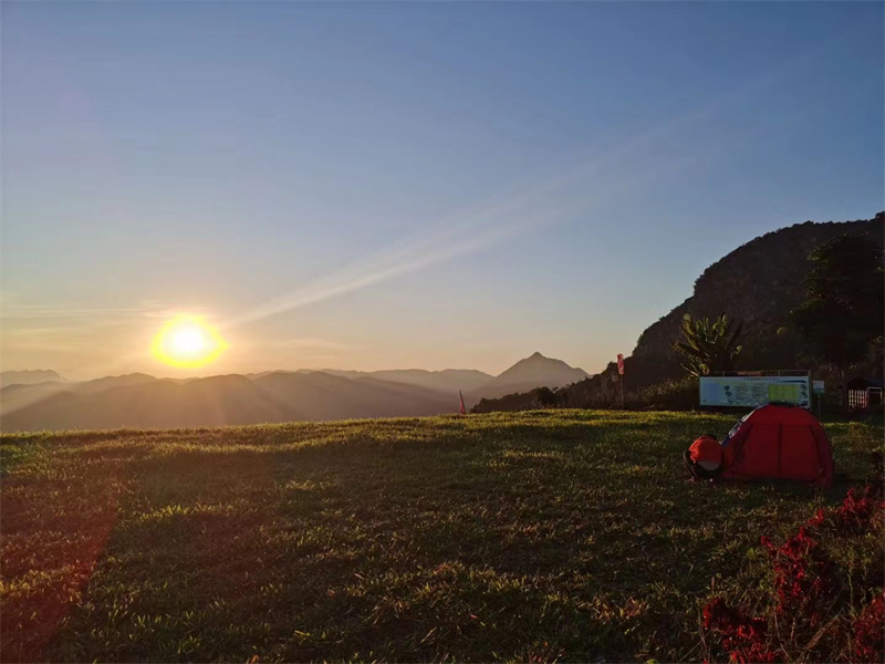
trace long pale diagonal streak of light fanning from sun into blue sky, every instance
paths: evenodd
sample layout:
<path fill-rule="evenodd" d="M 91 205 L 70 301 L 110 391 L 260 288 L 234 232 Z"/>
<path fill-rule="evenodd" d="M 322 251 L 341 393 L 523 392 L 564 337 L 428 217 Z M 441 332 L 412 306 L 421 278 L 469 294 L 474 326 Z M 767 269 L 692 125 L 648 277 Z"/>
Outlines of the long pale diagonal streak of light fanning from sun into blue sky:
<path fill-rule="evenodd" d="M 763 123 L 753 118 L 749 120 L 749 126 L 719 126 L 717 122 L 721 123 L 723 112 L 746 106 L 753 94 L 778 84 L 846 34 L 836 34 L 799 52 L 613 149 L 602 154 L 583 151 L 572 159 L 572 166 L 548 177 L 516 183 L 496 196 L 436 220 L 419 236 L 235 317 L 227 326 L 367 288 L 577 215 L 592 216 L 603 203 L 642 194 L 653 184 L 675 177 L 687 168 L 709 164 L 729 147 L 766 131 Z"/>

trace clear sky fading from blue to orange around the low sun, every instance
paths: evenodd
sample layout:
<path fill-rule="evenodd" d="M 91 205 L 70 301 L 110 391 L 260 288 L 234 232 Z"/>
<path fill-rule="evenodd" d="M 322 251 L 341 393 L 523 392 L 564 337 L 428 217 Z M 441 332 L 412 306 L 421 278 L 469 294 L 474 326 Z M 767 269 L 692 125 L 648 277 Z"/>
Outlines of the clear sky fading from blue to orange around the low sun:
<path fill-rule="evenodd" d="M 3 370 L 595 373 L 885 208 L 881 2 L 0 4 Z M 228 347 L 150 352 L 200 315 Z"/>

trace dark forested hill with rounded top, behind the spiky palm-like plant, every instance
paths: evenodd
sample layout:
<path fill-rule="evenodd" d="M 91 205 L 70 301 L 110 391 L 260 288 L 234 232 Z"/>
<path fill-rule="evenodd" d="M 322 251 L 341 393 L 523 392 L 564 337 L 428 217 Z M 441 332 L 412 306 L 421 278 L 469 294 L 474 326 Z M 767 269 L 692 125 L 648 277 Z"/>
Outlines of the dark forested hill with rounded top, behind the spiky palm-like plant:
<path fill-rule="evenodd" d="M 768 232 L 721 258 L 695 282 L 685 302 L 642 333 L 626 361 L 633 387 L 685 374 L 671 351 L 683 315 L 728 313 L 743 322 L 739 365 L 745 369 L 796 366 L 798 340 L 790 311 L 805 297 L 808 256 L 823 241 L 843 234 L 868 234 L 883 243 L 885 212 L 873 219 L 815 224 L 805 221 Z"/>

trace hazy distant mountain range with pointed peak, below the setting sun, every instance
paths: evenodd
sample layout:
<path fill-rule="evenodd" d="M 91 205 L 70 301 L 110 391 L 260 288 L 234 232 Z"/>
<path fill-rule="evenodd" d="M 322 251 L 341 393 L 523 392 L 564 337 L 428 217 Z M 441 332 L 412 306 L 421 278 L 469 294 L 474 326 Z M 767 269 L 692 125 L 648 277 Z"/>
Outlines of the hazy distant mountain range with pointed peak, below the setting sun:
<path fill-rule="evenodd" d="M 436 415 L 457 412 L 459 390 L 471 405 L 482 396 L 558 387 L 587 375 L 540 353 L 498 376 L 473 370 L 300 370 L 185 381 L 136 373 L 73 383 L 55 372 L 3 372 L 4 381 L 8 374 L 22 382 L 0 390 L 4 433 Z"/>

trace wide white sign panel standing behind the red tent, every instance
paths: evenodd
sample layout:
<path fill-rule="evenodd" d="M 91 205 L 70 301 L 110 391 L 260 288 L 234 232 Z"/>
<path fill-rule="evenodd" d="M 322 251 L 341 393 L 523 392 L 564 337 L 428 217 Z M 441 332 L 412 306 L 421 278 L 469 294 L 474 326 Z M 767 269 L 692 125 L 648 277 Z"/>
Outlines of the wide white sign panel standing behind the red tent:
<path fill-rule="evenodd" d="M 769 402 L 811 407 L 809 376 L 701 376 L 701 406 L 754 408 Z"/>

